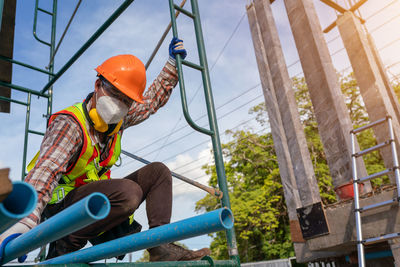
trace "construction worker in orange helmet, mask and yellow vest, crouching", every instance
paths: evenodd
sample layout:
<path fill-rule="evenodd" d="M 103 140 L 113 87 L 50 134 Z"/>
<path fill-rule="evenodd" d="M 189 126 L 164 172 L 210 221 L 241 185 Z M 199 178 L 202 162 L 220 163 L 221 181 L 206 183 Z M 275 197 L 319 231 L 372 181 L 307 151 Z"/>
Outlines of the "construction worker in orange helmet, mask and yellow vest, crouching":
<path fill-rule="evenodd" d="M 110 168 L 119 158 L 123 131 L 168 101 L 178 80 L 177 54 L 185 58 L 186 50 L 182 40 L 173 38 L 169 60 L 144 95 L 143 63 L 133 55 L 111 57 L 96 68 L 94 92 L 85 101 L 51 116 L 40 153 L 25 179 L 35 187 L 38 204 L 32 214 L 0 235 L 2 247 L 12 240 L 10 235 L 39 224 L 41 215 L 51 217 L 93 192 L 109 198 L 107 218 L 53 242 L 47 258 L 79 250 L 88 240 L 97 244 L 140 231 L 129 216 L 145 200 L 150 228 L 170 223 L 172 177 L 164 164 L 148 164 L 123 179 L 110 179 Z M 173 243 L 148 251 L 150 261 L 197 260 L 210 254 L 208 248 L 192 251 Z"/>

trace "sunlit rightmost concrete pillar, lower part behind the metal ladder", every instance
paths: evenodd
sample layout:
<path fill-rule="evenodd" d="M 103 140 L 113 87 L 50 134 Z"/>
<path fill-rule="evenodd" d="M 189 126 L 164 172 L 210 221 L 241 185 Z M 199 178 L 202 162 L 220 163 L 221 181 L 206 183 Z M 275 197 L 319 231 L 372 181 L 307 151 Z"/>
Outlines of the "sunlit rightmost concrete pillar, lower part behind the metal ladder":
<path fill-rule="evenodd" d="M 384 76 L 379 69 L 378 62 L 374 57 L 361 23 L 353 13 L 345 12 L 338 18 L 337 25 L 360 87 L 370 121 L 384 118 L 386 114 L 391 115 L 395 140 L 399 144 L 400 124 L 396 109 L 391 101 L 393 97 L 388 93 Z M 389 140 L 387 124 L 374 127 L 373 130 L 378 143 Z M 391 168 L 393 166 L 393 158 L 390 147 L 381 149 L 381 154 L 385 166 Z M 394 182 L 393 177 L 391 178 L 392 182 Z"/>

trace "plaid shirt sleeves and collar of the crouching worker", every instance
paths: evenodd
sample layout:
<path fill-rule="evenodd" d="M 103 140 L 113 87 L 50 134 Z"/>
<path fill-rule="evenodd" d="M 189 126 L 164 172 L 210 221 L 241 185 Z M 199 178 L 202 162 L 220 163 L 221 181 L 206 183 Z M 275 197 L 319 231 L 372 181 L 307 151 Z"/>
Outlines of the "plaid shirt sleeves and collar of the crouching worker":
<path fill-rule="evenodd" d="M 134 102 L 130 107 L 128 115 L 124 118 L 122 130 L 144 121 L 164 106 L 177 81 L 178 76 L 174 62 L 168 61 L 145 92 L 144 104 Z M 87 125 L 89 124 L 87 123 Z M 100 148 L 107 147 L 106 144 L 99 141 L 100 138 L 96 131 L 92 129 L 89 135 L 93 145 L 99 143 Z M 25 182 L 35 187 L 38 203 L 33 213 L 22 219 L 21 223 L 29 228 L 33 228 L 39 223 L 40 215 L 50 201 L 53 190 L 58 186 L 63 173 L 78 159 L 82 145 L 83 133 L 79 124 L 68 115 L 56 116 L 47 127 L 36 165 L 25 179 Z M 104 152 L 101 155 L 102 159 L 107 156 L 108 151 Z"/>

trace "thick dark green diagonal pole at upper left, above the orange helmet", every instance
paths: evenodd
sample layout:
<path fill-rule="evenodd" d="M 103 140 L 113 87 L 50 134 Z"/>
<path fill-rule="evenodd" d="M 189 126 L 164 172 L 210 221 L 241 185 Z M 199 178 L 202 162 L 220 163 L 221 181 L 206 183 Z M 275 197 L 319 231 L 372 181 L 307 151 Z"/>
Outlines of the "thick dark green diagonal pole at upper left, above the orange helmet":
<path fill-rule="evenodd" d="M 103 25 L 100 26 L 99 29 L 89 38 L 89 40 L 86 41 L 86 43 L 73 55 L 70 60 L 68 60 L 67 63 L 54 75 L 54 77 L 44 86 L 44 88 L 41 90 L 42 93 L 46 92 L 50 86 L 52 86 L 60 76 L 68 70 L 68 68 L 83 54 L 83 52 L 88 49 L 94 41 L 99 38 L 99 36 L 121 15 L 121 13 L 128 8 L 128 6 L 133 2 L 134 0 L 125 0 L 117 8 L 117 10 L 114 11 L 114 13 L 106 20 L 106 22 L 103 23 Z"/>

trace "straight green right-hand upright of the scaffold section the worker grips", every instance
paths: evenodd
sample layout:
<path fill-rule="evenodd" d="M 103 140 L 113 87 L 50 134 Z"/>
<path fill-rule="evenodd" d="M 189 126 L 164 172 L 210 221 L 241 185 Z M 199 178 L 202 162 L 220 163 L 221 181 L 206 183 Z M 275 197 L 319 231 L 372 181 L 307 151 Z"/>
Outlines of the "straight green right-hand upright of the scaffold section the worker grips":
<path fill-rule="evenodd" d="M 204 94 L 206 97 L 208 120 L 209 120 L 209 124 L 210 124 L 210 129 L 214 133 L 212 135 L 211 139 L 212 139 L 213 150 L 214 150 L 214 160 L 215 160 L 215 167 L 216 167 L 217 177 L 218 177 L 218 185 L 219 185 L 220 190 L 223 192 L 223 197 L 222 197 L 221 201 L 222 201 L 223 207 L 228 207 L 230 209 L 231 204 L 229 201 L 229 191 L 228 191 L 228 185 L 227 185 L 226 175 L 225 175 L 224 160 L 222 157 L 221 141 L 219 139 L 217 115 L 215 112 L 214 100 L 213 100 L 213 95 L 212 95 L 212 90 L 211 90 L 210 75 L 208 72 L 208 63 L 207 63 L 207 57 L 206 57 L 206 49 L 205 49 L 204 40 L 203 40 L 203 31 L 202 31 L 201 22 L 200 22 L 199 6 L 197 3 L 197 0 L 191 0 L 191 4 L 192 4 L 192 13 L 196 15 L 194 18 L 194 28 L 195 28 L 195 33 L 196 33 L 196 41 L 197 41 L 197 49 L 199 52 L 200 65 L 204 68 L 204 70 L 201 73 L 202 73 L 202 77 L 203 77 Z M 227 241 L 228 241 L 229 257 L 233 260 L 236 260 L 238 265 L 240 265 L 240 258 L 239 258 L 239 253 L 238 253 L 238 249 L 237 249 L 235 229 L 232 227 L 231 229 L 226 230 L 226 236 L 227 236 Z"/>

